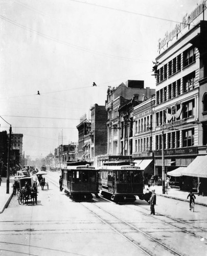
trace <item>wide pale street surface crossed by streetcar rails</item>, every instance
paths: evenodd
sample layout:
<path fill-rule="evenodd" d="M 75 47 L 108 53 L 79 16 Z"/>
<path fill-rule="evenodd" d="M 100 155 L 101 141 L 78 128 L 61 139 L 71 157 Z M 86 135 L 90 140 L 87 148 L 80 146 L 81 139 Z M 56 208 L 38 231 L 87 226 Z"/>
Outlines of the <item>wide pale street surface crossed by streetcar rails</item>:
<path fill-rule="evenodd" d="M 38 205 L 13 197 L 1 214 L 0 255 L 206 255 L 205 206 L 191 212 L 188 202 L 157 196 L 151 216 L 141 200 L 73 202 L 52 178 L 49 190 L 38 187 Z"/>

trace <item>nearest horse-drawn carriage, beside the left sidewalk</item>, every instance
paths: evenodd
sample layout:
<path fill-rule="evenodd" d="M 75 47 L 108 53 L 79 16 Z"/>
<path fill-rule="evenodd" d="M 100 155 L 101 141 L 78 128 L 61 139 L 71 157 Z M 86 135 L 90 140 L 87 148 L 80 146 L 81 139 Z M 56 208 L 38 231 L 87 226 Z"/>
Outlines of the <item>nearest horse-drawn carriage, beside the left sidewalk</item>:
<path fill-rule="evenodd" d="M 30 199 L 31 203 L 37 204 L 37 185 L 32 177 L 20 178 L 19 188 L 19 194 L 17 195 L 19 204 L 28 204 Z"/>

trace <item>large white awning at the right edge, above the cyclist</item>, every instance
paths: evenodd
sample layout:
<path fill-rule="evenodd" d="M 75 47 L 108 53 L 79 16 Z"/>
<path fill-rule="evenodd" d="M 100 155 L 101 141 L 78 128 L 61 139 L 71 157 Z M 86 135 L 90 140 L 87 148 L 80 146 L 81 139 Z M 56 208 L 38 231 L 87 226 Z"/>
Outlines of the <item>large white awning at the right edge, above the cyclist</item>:
<path fill-rule="evenodd" d="M 196 159 L 181 172 L 181 175 L 207 178 L 207 155 L 197 156 Z"/>

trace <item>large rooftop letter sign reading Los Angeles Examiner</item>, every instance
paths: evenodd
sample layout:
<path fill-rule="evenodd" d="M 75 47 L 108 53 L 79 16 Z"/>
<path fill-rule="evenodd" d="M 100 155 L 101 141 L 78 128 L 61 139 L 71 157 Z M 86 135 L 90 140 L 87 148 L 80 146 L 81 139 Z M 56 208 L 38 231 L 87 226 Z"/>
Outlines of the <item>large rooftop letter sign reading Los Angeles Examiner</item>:
<path fill-rule="evenodd" d="M 175 28 L 170 33 L 166 32 L 165 37 L 163 39 L 159 38 L 157 51 L 160 51 L 166 45 L 168 47 L 168 42 L 172 41 L 173 38 L 175 37 L 177 38 L 181 30 L 189 26 L 193 22 L 193 20 L 196 19 L 206 9 L 206 1 L 207 0 L 204 0 L 189 15 L 186 14 L 182 18 L 182 22 L 180 24 L 176 24 Z"/>

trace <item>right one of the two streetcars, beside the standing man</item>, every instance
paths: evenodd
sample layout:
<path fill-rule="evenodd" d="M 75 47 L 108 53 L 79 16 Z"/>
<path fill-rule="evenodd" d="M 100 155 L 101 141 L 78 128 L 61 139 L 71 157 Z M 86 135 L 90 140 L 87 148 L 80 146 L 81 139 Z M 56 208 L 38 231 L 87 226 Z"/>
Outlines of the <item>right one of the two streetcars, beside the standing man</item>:
<path fill-rule="evenodd" d="M 99 167 L 99 190 L 103 196 L 110 196 L 114 202 L 134 202 L 136 196 L 144 199 L 143 172 L 139 166 L 134 166 L 131 159 L 103 162 Z"/>

